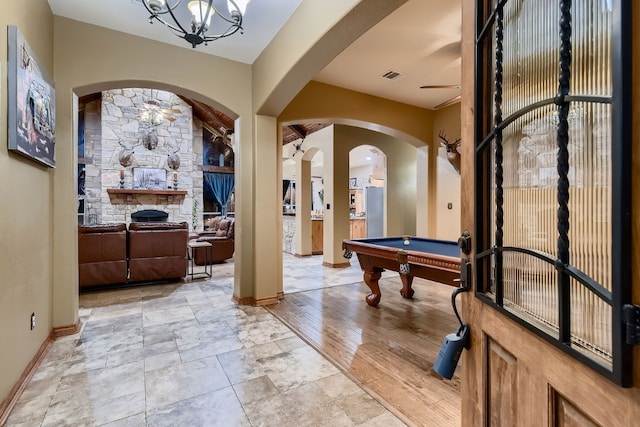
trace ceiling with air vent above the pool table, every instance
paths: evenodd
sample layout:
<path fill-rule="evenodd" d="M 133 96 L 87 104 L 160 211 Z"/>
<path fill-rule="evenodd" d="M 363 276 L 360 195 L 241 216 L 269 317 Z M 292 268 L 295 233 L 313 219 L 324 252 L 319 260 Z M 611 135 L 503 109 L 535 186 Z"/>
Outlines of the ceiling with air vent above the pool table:
<path fill-rule="evenodd" d="M 336 57 L 314 80 L 423 108 L 460 94 L 459 0 L 409 0 Z M 387 71 L 402 77 L 382 78 Z"/>

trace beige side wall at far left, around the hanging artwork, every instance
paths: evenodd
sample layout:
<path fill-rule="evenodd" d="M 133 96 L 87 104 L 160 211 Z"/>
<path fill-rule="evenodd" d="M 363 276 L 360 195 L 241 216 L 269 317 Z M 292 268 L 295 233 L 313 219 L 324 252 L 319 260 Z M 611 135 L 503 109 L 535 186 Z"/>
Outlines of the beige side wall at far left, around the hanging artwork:
<path fill-rule="evenodd" d="M 16 25 L 53 76 L 53 17 L 45 1 L 0 0 L 0 398 L 8 395 L 52 325 L 54 169 L 7 149 L 7 25 Z M 58 139 L 58 144 L 60 140 Z M 30 329 L 31 313 L 36 327 Z"/>

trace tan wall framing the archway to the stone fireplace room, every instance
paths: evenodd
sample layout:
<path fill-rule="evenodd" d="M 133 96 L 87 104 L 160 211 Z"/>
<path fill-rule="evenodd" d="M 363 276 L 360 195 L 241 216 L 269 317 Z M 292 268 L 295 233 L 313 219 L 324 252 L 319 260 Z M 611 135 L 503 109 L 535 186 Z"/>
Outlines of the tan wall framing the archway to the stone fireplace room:
<path fill-rule="evenodd" d="M 58 147 L 60 157 L 56 170 L 56 173 L 61 175 L 60 185 L 56 185 L 56 200 L 59 200 L 60 204 L 56 205 L 58 227 L 53 252 L 54 263 L 60 266 L 55 280 L 59 286 L 56 288 L 56 291 L 59 291 L 56 294 L 60 296 L 60 299 L 55 301 L 55 311 L 59 316 L 55 325 L 58 326 L 74 323 L 77 316 L 76 306 L 68 303 L 69 296 L 77 289 L 77 267 L 75 262 L 68 261 L 68 253 L 75 254 L 77 244 L 75 224 L 68 221 L 69 209 L 72 207 L 71 199 L 75 198 L 69 191 L 69 188 L 75 188 L 71 175 L 76 163 L 76 135 L 73 131 L 76 124 L 72 106 L 74 92 L 77 95 L 85 95 L 121 87 L 164 89 L 194 97 L 220 108 L 232 117 L 240 118 L 236 122 L 237 132 L 234 137 L 241 147 L 251 144 L 253 131 L 249 65 L 60 17 L 55 18 L 54 35 L 55 72 L 58 76 L 56 89 L 59 94 L 58 138 L 70 142 Z M 189 65 L 167 66 L 167 58 L 171 58 L 172 64 Z M 210 78 L 211 69 L 216 70 L 218 78 Z M 247 137 L 242 138 L 244 135 Z M 251 164 L 247 164 L 252 158 L 250 155 L 238 157 L 238 169 L 253 169 Z M 251 173 L 237 175 L 238 196 L 241 196 L 243 188 L 251 185 L 251 178 Z M 245 209 L 245 214 L 251 213 L 250 208 Z M 250 222 L 250 216 L 245 221 Z M 240 236 L 240 227 L 237 232 Z M 242 246 L 241 238 L 238 246 Z M 236 289 L 238 294 L 252 292 L 253 269 L 242 268 L 245 259 L 238 260 L 236 266 L 239 271 Z M 247 262 L 251 263 L 251 259 L 247 259 Z"/>

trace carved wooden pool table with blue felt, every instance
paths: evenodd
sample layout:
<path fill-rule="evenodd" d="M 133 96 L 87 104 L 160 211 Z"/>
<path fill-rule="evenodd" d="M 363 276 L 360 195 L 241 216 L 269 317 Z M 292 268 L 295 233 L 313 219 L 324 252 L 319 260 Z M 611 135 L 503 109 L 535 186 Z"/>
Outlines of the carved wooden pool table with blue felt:
<path fill-rule="evenodd" d="M 345 258 L 351 258 L 354 252 L 358 255 L 364 282 L 371 289 L 366 301 L 372 307 L 380 302 L 378 280 L 385 269 L 400 273 L 400 294 L 405 298 L 413 297 L 411 284 L 416 276 L 459 286 L 456 280 L 460 279 L 460 249 L 457 242 L 397 236 L 343 240 L 342 249 Z"/>

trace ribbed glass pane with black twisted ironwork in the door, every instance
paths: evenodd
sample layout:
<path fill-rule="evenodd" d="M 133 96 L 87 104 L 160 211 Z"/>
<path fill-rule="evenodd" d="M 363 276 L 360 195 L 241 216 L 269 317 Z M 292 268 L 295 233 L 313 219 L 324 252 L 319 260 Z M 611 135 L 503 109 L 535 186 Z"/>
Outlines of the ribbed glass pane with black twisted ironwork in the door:
<path fill-rule="evenodd" d="M 476 296 L 630 386 L 631 2 L 477 7 Z"/>

